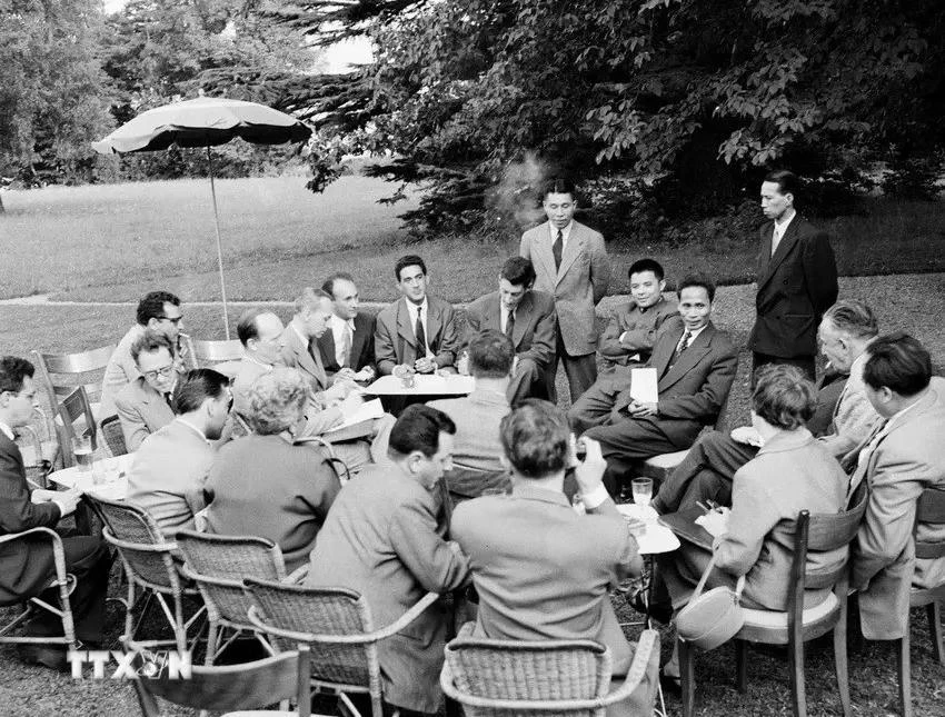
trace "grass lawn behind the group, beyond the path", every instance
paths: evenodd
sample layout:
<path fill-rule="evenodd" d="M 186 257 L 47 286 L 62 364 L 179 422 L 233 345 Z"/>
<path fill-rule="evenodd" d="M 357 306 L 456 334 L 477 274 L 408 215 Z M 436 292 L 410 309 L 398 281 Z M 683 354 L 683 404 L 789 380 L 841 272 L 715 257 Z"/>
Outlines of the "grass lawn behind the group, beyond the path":
<path fill-rule="evenodd" d="M 392 266 L 407 251 L 425 257 L 434 290 L 468 301 L 490 288 L 518 236 L 484 241 L 442 238 L 404 246 L 381 180 L 346 176 L 324 195 L 297 177 L 217 182 L 228 295 L 290 300 L 336 270 L 356 276 L 361 297 L 395 296 Z M 167 288 L 185 300 L 219 298 L 209 183 L 180 180 L 96 187 L 50 187 L 4 193 L 0 219 L 4 276 L 0 298 L 51 293 L 80 301 L 137 300 Z M 840 273 L 864 276 L 945 270 L 945 203 L 864 200 L 863 213 L 818 220 L 832 236 Z M 759 215 L 760 218 L 760 215 Z M 719 283 L 754 275 L 754 240 L 696 246 L 610 242 L 611 292 L 626 290 L 625 267 L 654 256 L 679 278 L 704 270 Z"/>

